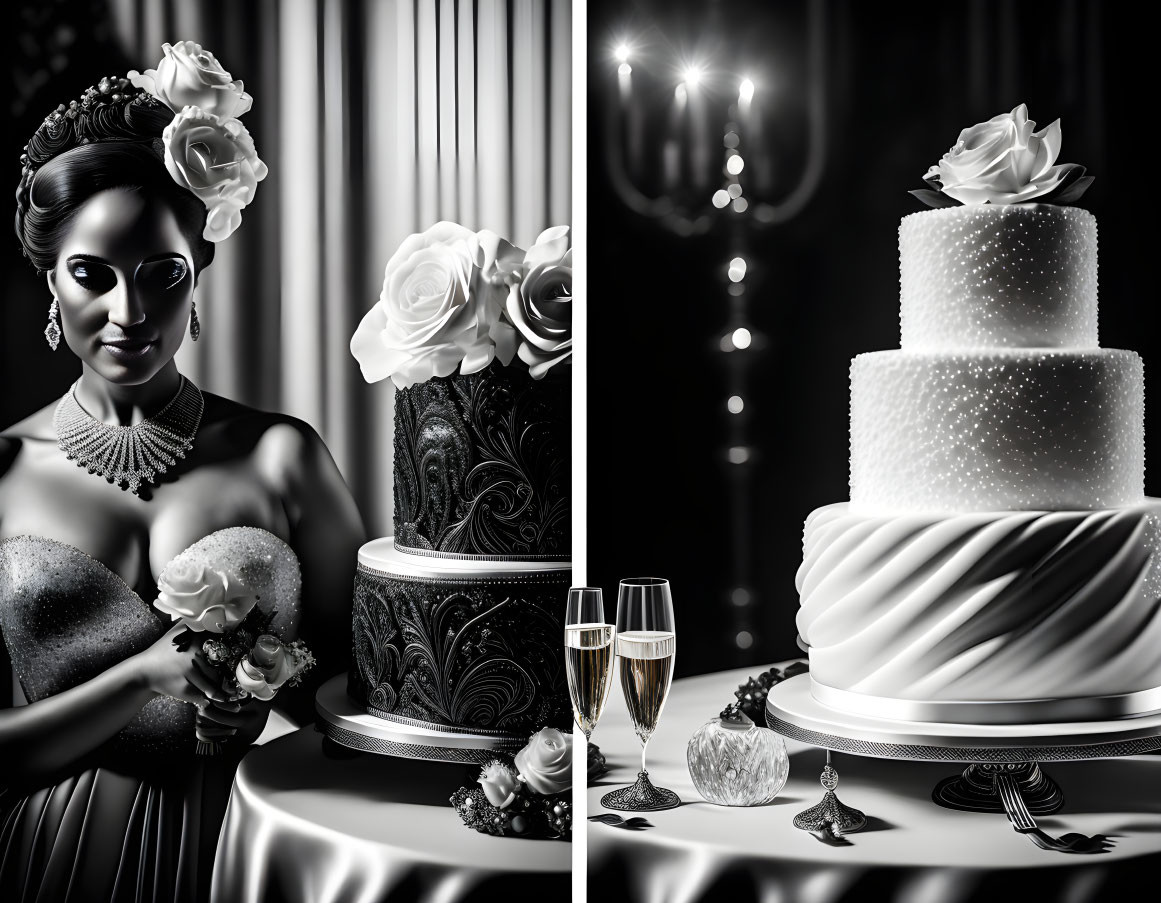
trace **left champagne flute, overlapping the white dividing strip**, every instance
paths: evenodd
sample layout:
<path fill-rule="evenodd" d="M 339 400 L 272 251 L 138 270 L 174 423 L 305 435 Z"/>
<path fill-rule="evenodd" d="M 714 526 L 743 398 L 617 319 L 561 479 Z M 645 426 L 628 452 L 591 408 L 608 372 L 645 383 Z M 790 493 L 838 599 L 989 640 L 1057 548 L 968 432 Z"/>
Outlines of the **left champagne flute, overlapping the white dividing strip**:
<path fill-rule="evenodd" d="M 605 621 L 605 601 L 594 586 L 569 590 L 564 616 L 564 664 L 572 696 L 572 714 L 587 742 L 613 685 L 613 636 Z"/>

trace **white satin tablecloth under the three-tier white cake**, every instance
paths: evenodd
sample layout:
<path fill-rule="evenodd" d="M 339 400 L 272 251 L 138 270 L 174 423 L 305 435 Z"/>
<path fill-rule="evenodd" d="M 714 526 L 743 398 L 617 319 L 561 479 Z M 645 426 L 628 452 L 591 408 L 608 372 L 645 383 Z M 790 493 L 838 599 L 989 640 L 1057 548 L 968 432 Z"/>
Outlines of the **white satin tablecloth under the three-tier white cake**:
<path fill-rule="evenodd" d="M 680 656 L 680 636 L 678 656 Z M 699 725 L 734 701 L 762 669 L 678 680 L 649 744 L 654 783 L 683 806 L 641 812 L 652 828 L 628 831 L 589 822 L 589 898 L 644 903 L 1002 903 L 1009 900 L 1095 903 L 1155 898 L 1161 888 L 1161 757 L 1050 764 L 1065 807 L 1038 823 L 1050 833 L 1115 836 L 1106 853 L 1039 850 L 1002 814 L 959 812 L 931 802 L 936 783 L 965 766 L 836 754 L 838 797 L 861 809 L 868 826 L 832 847 L 793 826 L 819 802 L 821 750 L 788 742 L 789 780 L 770 804 L 713 806 L 693 788 L 685 746 Z M 600 797 L 636 778 L 641 745 L 620 687 L 592 737 L 610 773 L 589 789 L 589 816 Z M 616 812 L 630 817 L 633 812 Z"/>

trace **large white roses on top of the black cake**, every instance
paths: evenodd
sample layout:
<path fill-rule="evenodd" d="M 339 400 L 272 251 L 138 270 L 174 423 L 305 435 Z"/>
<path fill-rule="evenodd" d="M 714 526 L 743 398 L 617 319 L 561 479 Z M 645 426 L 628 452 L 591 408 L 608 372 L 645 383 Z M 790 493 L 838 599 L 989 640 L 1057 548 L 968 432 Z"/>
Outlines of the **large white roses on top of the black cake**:
<path fill-rule="evenodd" d="M 545 376 L 572 351 L 568 231 L 546 230 L 527 253 L 455 223 L 410 236 L 351 339 L 363 377 L 406 389 L 518 353 L 533 378 Z"/>

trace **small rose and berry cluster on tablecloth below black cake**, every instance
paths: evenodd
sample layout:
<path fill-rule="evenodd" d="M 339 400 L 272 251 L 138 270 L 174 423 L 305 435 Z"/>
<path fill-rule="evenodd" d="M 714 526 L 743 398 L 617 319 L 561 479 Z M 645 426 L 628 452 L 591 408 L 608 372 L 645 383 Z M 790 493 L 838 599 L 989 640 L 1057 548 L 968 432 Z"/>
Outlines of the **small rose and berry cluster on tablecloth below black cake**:
<path fill-rule="evenodd" d="M 572 836 L 572 741 L 542 728 L 514 759 L 496 758 L 477 787 L 461 787 L 452 806 L 468 828 L 496 837 Z"/>

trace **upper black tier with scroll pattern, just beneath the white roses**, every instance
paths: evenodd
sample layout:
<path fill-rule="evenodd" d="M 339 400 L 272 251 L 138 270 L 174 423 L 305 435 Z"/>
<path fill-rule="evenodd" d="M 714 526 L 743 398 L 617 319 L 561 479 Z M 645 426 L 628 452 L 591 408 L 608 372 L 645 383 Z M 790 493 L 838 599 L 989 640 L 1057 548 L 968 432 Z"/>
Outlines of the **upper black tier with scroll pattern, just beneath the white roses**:
<path fill-rule="evenodd" d="M 395 539 L 468 556 L 568 558 L 569 378 L 493 363 L 396 395 Z"/>

